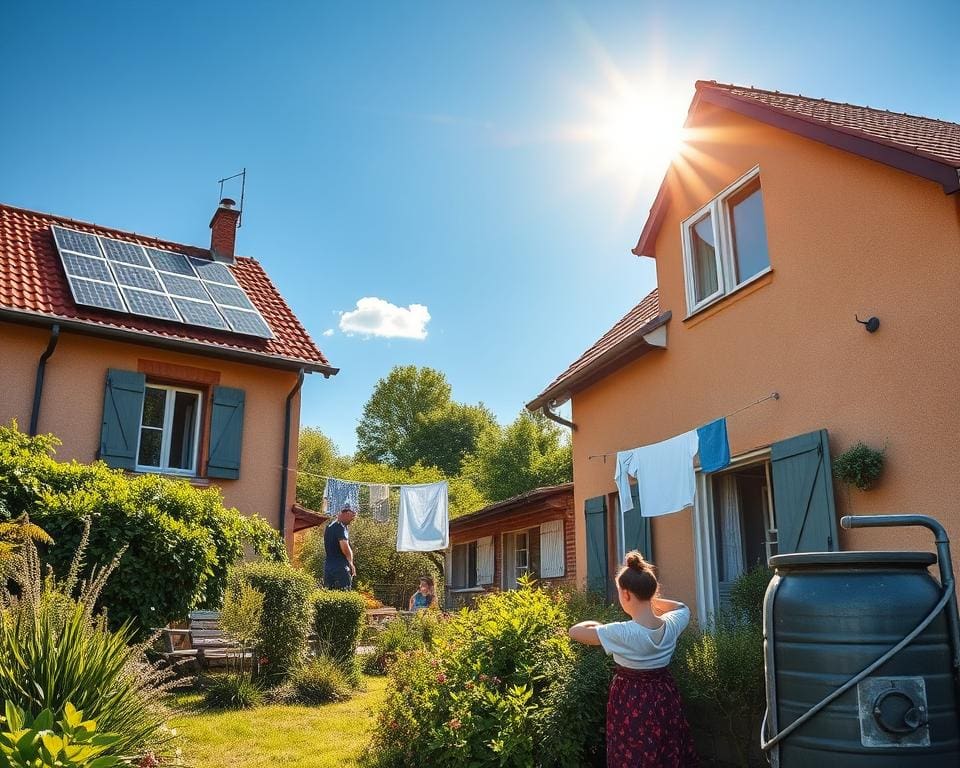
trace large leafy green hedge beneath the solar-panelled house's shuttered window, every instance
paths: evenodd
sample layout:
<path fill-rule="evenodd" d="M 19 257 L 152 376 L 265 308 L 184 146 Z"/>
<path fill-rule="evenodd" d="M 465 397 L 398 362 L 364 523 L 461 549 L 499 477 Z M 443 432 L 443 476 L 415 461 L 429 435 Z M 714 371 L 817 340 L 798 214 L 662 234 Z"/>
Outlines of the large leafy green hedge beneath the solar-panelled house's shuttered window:
<path fill-rule="evenodd" d="M 226 508 L 216 488 L 197 489 L 158 475 L 130 477 L 102 462 L 54 458 L 59 440 L 0 426 L 0 521 L 26 513 L 56 542 L 41 554 L 66 573 L 84 520 L 93 520 L 90 563 L 109 562 L 126 547 L 102 605 L 117 628 L 128 620 L 139 635 L 198 607 L 217 607 L 227 570 L 250 544 L 268 558 L 286 557 L 270 525 Z M 89 576 L 89 569 L 84 573 Z"/>

